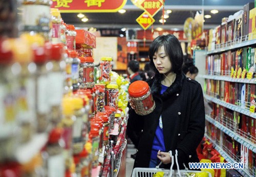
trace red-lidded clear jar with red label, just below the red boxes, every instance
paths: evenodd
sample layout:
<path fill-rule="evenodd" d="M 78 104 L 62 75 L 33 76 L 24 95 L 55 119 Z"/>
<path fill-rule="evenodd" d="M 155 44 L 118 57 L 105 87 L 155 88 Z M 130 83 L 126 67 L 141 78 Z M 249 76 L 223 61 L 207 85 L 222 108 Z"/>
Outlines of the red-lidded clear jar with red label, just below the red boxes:
<path fill-rule="evenodd" d="M 93 88 L 94 83 L 94 59 L 93 57 L 79 57 L 80 69 L 79 69 L 79 89 Z"/>

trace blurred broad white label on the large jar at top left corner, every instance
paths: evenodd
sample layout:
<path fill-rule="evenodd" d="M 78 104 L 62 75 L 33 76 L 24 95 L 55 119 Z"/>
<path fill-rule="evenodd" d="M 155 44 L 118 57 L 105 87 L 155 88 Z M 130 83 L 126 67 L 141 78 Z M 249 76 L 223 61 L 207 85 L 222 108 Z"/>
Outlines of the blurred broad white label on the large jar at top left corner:
<path fill-rule="evenodd" d="M 24 5 L 22 8 L 25 31 L 49 32 L 50 6 Z"/>

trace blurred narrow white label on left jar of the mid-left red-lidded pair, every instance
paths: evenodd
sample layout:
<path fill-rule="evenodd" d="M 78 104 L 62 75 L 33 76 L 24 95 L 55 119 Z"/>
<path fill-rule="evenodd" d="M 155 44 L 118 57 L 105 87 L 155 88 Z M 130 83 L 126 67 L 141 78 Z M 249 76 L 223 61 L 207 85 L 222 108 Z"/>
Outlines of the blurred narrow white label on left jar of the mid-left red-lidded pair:
<path fill-rule="evenodd" d="M 48 114 L 50 105 L 48 104 L 48 79 L 47 76 L 40 76 L 37 78 L 37 111 L 39 114 Z"/>

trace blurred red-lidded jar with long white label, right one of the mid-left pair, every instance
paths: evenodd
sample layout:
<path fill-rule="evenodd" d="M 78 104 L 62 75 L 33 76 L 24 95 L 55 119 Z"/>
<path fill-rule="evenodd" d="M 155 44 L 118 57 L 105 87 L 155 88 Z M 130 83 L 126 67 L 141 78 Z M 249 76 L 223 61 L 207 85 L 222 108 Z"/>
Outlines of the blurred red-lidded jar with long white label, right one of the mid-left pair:
<path fill-rule="evenodd" d="M 62 60 L 63 47 L 62 45 L 46 46 L 49 50 L 50 61 L 46 64 L 51 67 L 51 72 L 48 73 L 48 96 L 50 105 L 50 120 L 53 125 L 56 125 L 61 120 L 61 99 L 63 97 L 63 87 L 65 80 L 66 63 Z"/>

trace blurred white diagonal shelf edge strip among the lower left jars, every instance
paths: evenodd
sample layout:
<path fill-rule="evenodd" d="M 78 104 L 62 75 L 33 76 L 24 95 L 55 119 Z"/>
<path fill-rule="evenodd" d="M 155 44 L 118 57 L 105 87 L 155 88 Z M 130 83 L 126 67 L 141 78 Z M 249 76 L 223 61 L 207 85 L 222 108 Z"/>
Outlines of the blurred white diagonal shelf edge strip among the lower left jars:
<path fill-rule="evenodd" d="M 46 145 L 48 134 L 36 134 L 32 139 L 17 148 L 15 157 L 19 163 L 29 162 Z"/>

